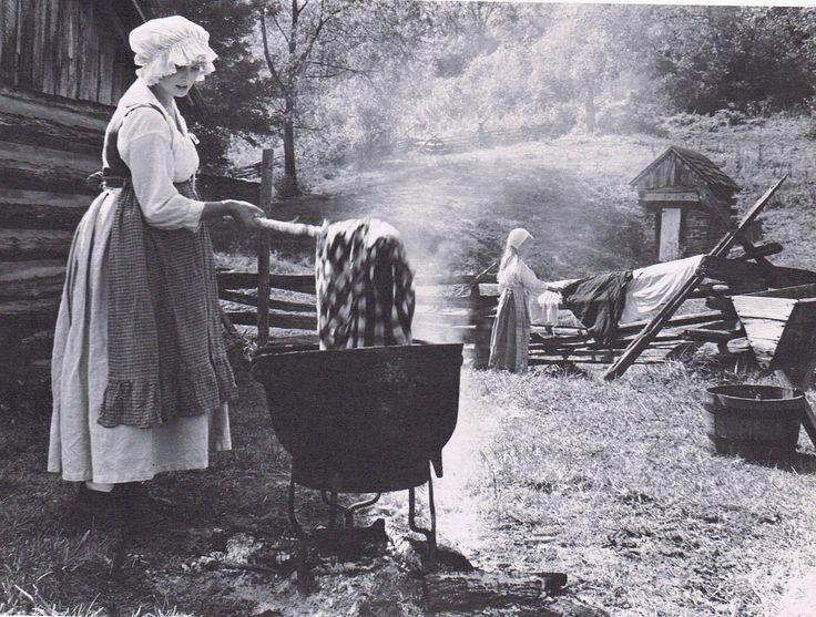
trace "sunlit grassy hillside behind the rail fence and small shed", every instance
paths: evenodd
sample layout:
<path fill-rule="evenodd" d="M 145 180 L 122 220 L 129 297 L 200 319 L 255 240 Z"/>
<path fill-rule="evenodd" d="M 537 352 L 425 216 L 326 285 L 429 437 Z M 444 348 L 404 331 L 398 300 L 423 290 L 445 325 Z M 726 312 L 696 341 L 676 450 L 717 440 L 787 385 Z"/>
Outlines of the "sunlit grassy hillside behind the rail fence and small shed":
<path fill-rule="evenodd" d="M 765 235 L 786 247 L 775 261 L 816 269 L 816 142 L 806 136 L 807 121 L 679 116 L 665 130 L 671 136 L 571 135 L 389 160 L 364 173 L 343 171 L 317 183 L 313 195 L 276 207 L 280 218 L 304 222 L 385 218 L 402 230 L 415 268 L 425 272 L 484 268 L 500 256 L 507 232 L 524 226 L 536 236 L 532 265 L 541 276 L 585 275 L 649 261 L 628 183 L 677 144 L 736 179 L 742 208 L 789 174 L 763 217 Z"/>

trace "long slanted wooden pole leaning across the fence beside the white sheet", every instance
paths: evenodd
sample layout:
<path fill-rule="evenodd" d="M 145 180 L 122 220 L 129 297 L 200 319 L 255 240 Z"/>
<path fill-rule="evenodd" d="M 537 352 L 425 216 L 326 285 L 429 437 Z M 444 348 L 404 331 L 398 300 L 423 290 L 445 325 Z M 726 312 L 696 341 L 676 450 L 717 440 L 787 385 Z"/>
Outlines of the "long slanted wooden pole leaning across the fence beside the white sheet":
<path fill-rule="evenodd" d="M 738 227 L 733 232 L 726 234 L 708 255 L 712 255 L 714 257 L 722 257 L 723 255 L 727 255 L 728 250 L 731 250 L 731 247 L 736 244 L 740 235 L 759 215 L 765 205 L 771 200 L 771 197 L 774 195 L 774 193 L 776 193 L 776 189 L 782 186 L 782 183 L 785 181 L 786 177 L 787 176 L 783 176 L 782 179 L 779 179 L 771 188 L 768 188 L 765 194 L 756 200 L 748 213 L 743 217 Z M 615 379 L 626 371 L 626 369 L 634 362 L 638 356 L 640 356 L 641 351 L 643 351 L 643 349 L 649 346 L 649 341 L 654 336 L 656 336 L 657 332 L 660 332 L 660 330 L 671 319 L 677 308 L 680 308 L 680 305 L 682 305 L 685 301 L 686 297 L 697 287 L 697 285 L 700 285 L 702 279 L 703 275 L 697 272 L 695 274 L 695 276 L 691 277 L 686 281 L 686 284 L 683 285 L 683 287 L 675 291 L 675 294 L 669 299 L 669 301 L 654 317 L 654 319 L 652 319 L 652 321 L 643 329 L 638 338 L 632 341 L 632 345 L 629 346 L 625 353 L 603 373 L 604 379 Z"/>

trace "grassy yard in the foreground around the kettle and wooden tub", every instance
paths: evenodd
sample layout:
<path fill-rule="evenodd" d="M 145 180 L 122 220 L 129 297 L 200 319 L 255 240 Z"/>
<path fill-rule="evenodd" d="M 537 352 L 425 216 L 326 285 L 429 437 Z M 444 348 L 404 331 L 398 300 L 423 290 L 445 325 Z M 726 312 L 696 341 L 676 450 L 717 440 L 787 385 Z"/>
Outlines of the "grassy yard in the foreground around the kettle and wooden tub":
<path fill-rule="evenodd" d="M 611 384 L 465 371 L 437 483 L 442 537 L 487 569 L 565 572 L 569 598 L 610 615 L 809 615 L 816 454 L 803 432 L 789 469 L 715 455 L 700 397 L 728 379 L 677 363 Z M 47 419 L 19 419 L 0 449 L 0 614 L 420 615 L 390 558 L 350 582 L 329 568 L 307 599 L 292 578 L 225 565 L 231 551 L 263 565 L 294 547 L 286 456 L 247 381 L 232 420 L 234 452 L 154 482 L 177 516 L 123 532 L 70 525 L 74 487 L 42 471 Z M 299 503 L 307 524 L 323 520 L 306 491 Z M 405 512 L 396 494 L 374 513 L 395 543 Z"/>

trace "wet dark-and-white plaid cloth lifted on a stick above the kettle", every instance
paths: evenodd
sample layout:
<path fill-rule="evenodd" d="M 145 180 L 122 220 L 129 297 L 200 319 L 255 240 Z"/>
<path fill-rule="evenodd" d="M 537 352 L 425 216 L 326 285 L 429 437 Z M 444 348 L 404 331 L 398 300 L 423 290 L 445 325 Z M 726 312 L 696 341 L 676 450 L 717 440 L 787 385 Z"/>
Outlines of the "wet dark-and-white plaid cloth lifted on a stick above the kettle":
<path fill-rule="evenodd" d="M 315 278 L 320 349 L 411 343 L 414 272 L 394 227 L 377 219 L 324 225 Z"/>

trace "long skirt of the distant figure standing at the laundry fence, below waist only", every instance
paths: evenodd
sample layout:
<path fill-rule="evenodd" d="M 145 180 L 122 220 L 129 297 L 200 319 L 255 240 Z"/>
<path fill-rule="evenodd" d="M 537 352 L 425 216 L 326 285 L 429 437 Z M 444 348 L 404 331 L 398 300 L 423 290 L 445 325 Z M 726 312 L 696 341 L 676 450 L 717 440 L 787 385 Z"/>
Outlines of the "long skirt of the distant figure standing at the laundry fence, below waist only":
<path fill-rule="evenodd" d="M 499 298 L 493 331 L 490 335 L 488 367 L 512 372 L 526 371 L 529 346 L 530 315 L 524 292 L 506 289 Z"/>

